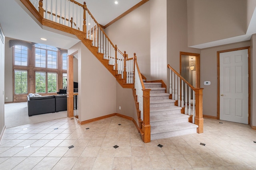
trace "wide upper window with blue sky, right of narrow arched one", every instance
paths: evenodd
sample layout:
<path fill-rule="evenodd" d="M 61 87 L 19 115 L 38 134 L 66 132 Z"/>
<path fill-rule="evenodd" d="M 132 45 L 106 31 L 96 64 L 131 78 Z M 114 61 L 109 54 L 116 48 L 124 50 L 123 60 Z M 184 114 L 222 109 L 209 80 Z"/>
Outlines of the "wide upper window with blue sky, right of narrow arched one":
<path fill-rule="evenodd" d="M 44 44 L 36 44 L 36 67 L 57 68 L 57 48 Z"/>

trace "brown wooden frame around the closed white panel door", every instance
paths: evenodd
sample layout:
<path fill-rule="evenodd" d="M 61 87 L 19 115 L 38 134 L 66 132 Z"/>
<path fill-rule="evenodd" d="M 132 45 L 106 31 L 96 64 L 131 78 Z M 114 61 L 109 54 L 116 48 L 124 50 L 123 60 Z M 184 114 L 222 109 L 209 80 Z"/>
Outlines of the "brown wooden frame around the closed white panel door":
<path fill-rule="evenodd" d="M 218 80 L 218 91 L 217 91 L 217 119 L 220 119 L 220 53 L 226 53 L 226 52 L 230 52 L 230 51 L 238 51 L 238 50 L 244 50 L 244 49 L 248 49 L 248 125 L 250 125 L 250 119 L 251 119 L 251 108 L 250 108 L 250 104 L 251 104 L 251 88 L 250 88 L 250 82 L 251 82 L 251 74 L 250 74 L 250 47 L 242 47 L 242 48 L 236 48 L 236 49 L 228 49 L 228 50 L 223 50 L 223 51 L 217 51 L 217 80 Z"/>

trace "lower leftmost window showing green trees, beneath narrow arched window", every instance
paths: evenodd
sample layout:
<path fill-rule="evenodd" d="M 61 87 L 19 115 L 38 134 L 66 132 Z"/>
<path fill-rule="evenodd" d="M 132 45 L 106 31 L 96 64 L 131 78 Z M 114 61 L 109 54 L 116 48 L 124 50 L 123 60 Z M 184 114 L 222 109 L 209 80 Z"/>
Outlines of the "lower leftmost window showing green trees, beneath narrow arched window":
<path fill-rule="evenodd" d="M 14 94 L 28 93 L 28 72 L 26 70 L 14 70 Z"/>

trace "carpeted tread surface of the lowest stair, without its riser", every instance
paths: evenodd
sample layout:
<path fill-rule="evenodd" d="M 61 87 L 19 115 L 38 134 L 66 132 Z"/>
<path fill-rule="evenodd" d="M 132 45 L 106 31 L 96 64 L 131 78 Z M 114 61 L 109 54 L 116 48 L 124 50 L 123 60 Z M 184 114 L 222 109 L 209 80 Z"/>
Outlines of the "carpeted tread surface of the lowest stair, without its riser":
<path fill-rule="evenodd" d="M 171 125 L 161 125 L 161 126 L 154 126 L 151 127 L 151 135 L 158 134 L 158 133 L 166 133 L 172 131 L 181 131 L 185 129 L 192 129 L 197 128 L 198 125 L 189 122 L 182 122 L 182 123 L 175 123 Z"/>

